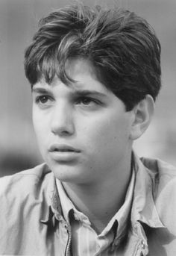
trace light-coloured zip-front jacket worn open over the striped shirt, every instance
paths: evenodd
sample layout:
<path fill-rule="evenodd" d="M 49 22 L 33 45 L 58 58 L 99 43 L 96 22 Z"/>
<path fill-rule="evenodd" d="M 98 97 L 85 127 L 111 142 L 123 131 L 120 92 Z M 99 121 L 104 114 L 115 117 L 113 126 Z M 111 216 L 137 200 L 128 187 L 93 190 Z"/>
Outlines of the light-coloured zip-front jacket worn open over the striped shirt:
<path fill-rule="evenodd" d="M 135 157 L 135 170 L 128 233 L 116 236 L 112 250 L 123 256 L 175 256 L 176 169 Z M 70 244 L 69 223 L 45 163 L 0 178 L 0 255 L 63 256 Z"/>

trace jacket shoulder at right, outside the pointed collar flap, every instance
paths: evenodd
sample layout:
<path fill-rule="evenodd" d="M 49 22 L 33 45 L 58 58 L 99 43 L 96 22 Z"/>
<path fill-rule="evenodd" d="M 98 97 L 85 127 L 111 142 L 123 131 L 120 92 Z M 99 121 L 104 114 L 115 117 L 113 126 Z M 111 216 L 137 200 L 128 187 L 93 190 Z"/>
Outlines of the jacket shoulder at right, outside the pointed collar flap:
<path fill-rule="evenodd" d="M 142 158 L 142 163 L 154 174 L 154 202 L 160 219 L 176 235 L 176 167 L 159 159 Z"/>

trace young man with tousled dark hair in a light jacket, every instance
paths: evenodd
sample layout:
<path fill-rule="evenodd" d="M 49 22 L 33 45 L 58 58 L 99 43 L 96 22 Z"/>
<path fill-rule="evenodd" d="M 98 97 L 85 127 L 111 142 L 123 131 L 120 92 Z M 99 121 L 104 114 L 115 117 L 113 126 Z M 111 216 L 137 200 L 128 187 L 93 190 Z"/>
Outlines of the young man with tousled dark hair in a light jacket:
<path fill-rule="evenodd" d="M 25 51 L 45 163 L 1 178 L 0 255 L 176 253 L 176 170 L 139 160 L 160 90 L 160 43 L 128 10 L 77 4 Z"/>

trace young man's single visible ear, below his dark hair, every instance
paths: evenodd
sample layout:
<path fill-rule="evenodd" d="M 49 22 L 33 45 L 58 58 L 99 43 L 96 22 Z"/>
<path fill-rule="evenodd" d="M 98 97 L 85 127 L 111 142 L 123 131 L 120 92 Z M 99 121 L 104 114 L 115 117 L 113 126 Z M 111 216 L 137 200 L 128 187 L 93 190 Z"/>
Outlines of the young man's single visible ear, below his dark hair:
<path fill-rule="evenodd" d="M 133 123 L 131 125 L 130 139 L 138 139 L 150 125 L 154 115 L 154 99 L 147 95 L 135 107 L 133 107 Z"/>

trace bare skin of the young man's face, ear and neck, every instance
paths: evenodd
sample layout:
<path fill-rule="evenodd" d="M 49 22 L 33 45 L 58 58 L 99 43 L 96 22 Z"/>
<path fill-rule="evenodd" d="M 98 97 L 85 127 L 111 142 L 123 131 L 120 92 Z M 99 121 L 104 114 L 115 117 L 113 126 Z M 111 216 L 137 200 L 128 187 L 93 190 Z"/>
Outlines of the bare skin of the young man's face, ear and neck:
<path fill-rule="evenodd" d="M 101 231 L 124 202 L 132 143 L 145 130 L 140 123 L 146 107 L 140 104 L 127 112 L 125 104 L 98 81 L 89 60 L 69 60 L 66 72 L 75 81 L 69 86 L 58 78 L 50 85 L 44 80 L 34 84 L 34 129 L 43 159 L 75 206 Z M 49 151 L 54 143 L 79 152 L 55 156 Z"/>

